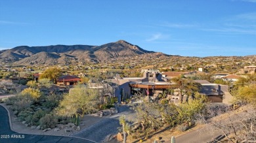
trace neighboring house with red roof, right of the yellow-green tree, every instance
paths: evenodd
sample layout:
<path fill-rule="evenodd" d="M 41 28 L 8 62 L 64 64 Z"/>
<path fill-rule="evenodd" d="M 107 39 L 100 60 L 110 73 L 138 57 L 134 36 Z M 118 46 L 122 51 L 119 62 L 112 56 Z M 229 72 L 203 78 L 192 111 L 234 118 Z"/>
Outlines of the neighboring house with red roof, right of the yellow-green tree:
<path fill-rule="evenodd" d="M 76 85 L 78 82 L 81 82 L 81 78 L 68 74 L 68 75 L 60 76 L 56 80 L 56 82 L 60 86 L 72 86 L 72 85 Z"/>

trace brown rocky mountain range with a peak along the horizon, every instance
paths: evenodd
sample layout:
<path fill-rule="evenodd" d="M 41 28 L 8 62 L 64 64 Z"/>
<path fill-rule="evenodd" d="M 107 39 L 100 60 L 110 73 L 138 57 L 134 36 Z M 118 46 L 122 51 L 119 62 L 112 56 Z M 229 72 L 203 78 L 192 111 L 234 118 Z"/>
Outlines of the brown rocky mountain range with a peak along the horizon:
<path fill-rule="evenodd" d="M 54 65 L 74 62 L 101 63 L 114 62 L 131 57 L 169 57 L 160 52 L 147 51 L 137 45 L 118 40 L 101 46 L 54 45 L 17 46 L 0 51 L 0 61 L 14 65 Z"/>

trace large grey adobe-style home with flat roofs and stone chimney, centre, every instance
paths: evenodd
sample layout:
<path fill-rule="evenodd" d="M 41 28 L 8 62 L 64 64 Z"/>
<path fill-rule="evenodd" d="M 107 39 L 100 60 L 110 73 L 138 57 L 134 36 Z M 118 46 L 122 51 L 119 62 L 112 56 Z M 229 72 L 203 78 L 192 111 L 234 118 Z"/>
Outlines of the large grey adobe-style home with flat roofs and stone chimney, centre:
<path fill-rule="evenodd" d="M 141 78 L 121 78 L 119 74 L 112 80 L 112 83 L 116 84 L 115 96 L 118 97 L 119 101 L 123 101 L 126 97 L 135 95 L 136 93 L 142 93 L 143 95 L 148 95 L 152 99 L 158 97 L 158 95 L 165 95 L 165 97 L 170 97 L 171 100 L 179 99 L 179 92 L 175 94 L 170 93 L 169 89 L 175 89 L 175 83 L 165 82 L 167 79 L 162 76 L 160 72 L 156 71 L 144 71 L 143 77 Z M 195 80 L 201 84 L 200 93 L 207 96 L 211 103 L 228 103 L 229 97 L 228 87 L 219 84 L 211 84 L 206 80 Z M 228 97 L 228 98 L 227 98 Z"/>

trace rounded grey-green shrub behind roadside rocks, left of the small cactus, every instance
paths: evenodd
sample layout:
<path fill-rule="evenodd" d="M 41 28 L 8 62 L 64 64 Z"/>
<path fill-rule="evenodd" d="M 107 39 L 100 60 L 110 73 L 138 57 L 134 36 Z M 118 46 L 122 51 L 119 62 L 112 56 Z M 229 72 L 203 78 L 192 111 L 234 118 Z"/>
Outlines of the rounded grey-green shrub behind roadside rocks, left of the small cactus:
<path fill-rule="evenodd" d="M 39 125 L 41 125 L 42 129 L 54 128 L 56 123 L 58 123 L 58 119 L 51 114 L 46 114 L 39 120 Z"/>

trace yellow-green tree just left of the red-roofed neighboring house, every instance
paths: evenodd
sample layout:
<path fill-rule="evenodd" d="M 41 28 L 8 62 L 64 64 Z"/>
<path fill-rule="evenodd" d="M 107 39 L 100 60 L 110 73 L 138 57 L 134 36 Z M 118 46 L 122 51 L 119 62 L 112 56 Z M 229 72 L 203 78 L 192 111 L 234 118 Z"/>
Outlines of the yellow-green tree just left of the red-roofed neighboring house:
<path fill-rule="evenodd" d="M 56 79 L 62 74 L 61 69 L 58 67 L 50 67 L 49 69 L 46 69 L 43 74 L 39 76 L 39 78 L 48 78 L 52 82 L 56 83 Z"/>

